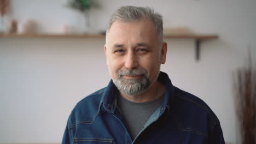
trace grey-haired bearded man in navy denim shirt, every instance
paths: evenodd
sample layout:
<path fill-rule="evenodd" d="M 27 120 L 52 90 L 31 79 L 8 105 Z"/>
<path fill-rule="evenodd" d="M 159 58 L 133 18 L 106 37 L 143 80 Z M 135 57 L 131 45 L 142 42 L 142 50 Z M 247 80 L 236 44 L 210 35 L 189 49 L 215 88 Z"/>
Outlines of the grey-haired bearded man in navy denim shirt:
<path fill-rule="evenodd" d="M 112 80 L 74 107 L 62 143 L 225 143 L 210 107 L 160 72 L 167 52 L 161 15 L 119 8 L 104 50 Z"/>

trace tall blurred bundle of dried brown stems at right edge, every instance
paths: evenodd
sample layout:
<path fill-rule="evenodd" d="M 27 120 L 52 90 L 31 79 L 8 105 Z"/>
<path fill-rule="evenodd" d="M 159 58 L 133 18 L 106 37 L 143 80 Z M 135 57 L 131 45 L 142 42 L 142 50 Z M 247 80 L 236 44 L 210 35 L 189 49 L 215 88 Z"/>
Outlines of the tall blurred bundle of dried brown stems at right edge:
<path fill-rule="evenodd" d="M 247 66 L 234 73 L 235 106 L 241 144 L 256 143 L 256 69 L 249 55 Z"/>

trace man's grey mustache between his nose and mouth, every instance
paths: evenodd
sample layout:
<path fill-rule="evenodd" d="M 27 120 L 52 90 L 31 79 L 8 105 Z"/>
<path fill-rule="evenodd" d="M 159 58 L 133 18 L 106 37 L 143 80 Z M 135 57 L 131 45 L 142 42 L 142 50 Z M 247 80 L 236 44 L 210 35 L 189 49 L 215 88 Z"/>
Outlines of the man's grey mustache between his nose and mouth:
<path fill-rule="evenodd" d="M 118 77 L 124 76 L 124 75 L 130 75 L 130 76 L 147 76 L 147 70 L 145 69 L 121 69 L 118 71 Z"/>

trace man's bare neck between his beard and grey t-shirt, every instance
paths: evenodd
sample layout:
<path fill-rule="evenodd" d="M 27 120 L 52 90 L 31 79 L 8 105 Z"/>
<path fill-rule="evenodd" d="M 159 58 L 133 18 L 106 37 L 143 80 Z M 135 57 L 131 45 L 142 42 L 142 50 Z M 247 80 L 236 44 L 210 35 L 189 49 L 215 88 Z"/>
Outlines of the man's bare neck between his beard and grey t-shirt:
<path fill-rule="evenodd" d="M 145 92 L 141 94 L 127 95 L 124 92 L 120 93 L 127 100 L 133 101 L 135 103 L 145 103 L 160 98 L 164 92 L 165 85 L 156 80 Z"/>

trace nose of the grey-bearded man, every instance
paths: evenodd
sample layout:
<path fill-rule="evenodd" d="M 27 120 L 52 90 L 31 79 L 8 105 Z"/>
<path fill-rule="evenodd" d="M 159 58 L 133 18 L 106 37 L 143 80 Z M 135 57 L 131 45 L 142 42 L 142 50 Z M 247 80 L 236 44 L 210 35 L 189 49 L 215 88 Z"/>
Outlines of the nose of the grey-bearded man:
<path fill-rule="evenodd" d="M 136 69 L 138 67 L 138 58 L 135 53 L 127 53 L 125 58 L 125 67 L 127 69 Z"/>

